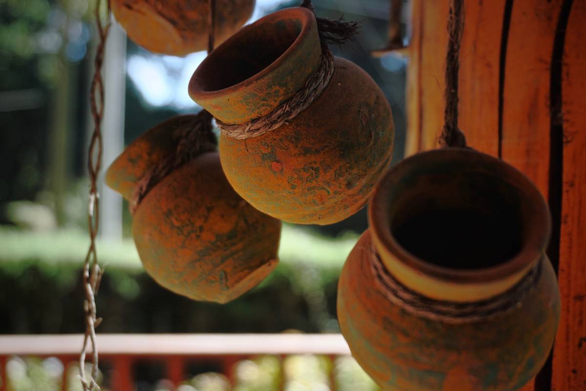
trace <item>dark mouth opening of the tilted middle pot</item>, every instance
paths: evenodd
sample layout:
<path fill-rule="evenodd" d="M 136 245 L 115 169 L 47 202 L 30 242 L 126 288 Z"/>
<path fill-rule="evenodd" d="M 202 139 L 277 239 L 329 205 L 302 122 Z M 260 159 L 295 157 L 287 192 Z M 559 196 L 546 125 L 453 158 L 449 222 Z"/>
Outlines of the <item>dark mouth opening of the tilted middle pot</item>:
<path fill-rule="evenodd" d="M 297 12 L 299 18 L 284 17 L 282 11 Z M 216 47 L 193 74 L 190 90 L 213 93 L 270 72 L 278 59 L 287 55 L 308 28 L 308 10 L 277 11 L 244 26 Z M 190 83 L 190 84 L 191 84 Z"/>

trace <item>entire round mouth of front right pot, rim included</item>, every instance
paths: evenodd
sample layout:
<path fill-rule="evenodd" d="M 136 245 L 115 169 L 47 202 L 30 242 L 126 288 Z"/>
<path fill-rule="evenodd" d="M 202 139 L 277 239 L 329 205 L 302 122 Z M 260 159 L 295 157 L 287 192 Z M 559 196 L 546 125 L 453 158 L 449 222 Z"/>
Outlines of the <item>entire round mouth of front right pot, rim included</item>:
<path fill-rule="evenodd" d="M 423 152 L 395 166 L 374 193 L 369 219 L 399 261 L 462 283 L 526 269 L 541 256 L 551 226 L 526 176 L 466 149 Z"/>

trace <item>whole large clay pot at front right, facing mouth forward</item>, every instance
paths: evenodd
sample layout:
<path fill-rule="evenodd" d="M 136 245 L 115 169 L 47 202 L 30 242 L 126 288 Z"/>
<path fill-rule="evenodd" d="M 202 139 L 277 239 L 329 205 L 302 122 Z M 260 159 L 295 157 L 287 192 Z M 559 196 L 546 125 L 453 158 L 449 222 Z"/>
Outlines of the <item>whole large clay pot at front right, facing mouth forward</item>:
<path fill-rule="evenodd" d="M 338 319 L 384 390 L 517 390 L 536 375 L 560 295 L 550 215 L 526 176 L 469 149 L 424 152 L 384 176 L 369 219 Z"/>

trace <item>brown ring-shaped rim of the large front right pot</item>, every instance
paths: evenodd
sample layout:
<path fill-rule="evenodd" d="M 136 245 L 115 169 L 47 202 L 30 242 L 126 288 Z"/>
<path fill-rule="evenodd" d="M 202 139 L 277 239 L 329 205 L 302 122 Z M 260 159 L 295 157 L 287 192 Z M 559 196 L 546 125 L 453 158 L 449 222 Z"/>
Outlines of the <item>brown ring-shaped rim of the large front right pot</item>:
<path fill-rule="evenodd" d="M 504 172 L 503 181 L 519 190 L 519 193 L 527 196 L 526 201 L 536 206 L 536 223 L 527 227 L 527 235 L 523 240 L 523 246 L 516 256 L 496 264 L 495 266 L 462 269 L 439 266 L 414 256 L 407 249 L 397 242 L 391 232 L 389 223 L 390 203 L 388 202 L 389 192 L 399 176 L 404 174 L 410 166 L 417 165 L 422 158 L 433 158 L 434 155 L 441 156 L 441 159 L 450 157 L 466 157 L 471 164 L 483 162 L 485 165 L 493 165 Z M 445 148 L 431 151 L 419 152 L 408 157 L 391 168 L 381 178 L 373 192 L 368 210 L 369 226 L 372 228 L 373 239 L 376 244 L 381 244 L 390 250 L 391 254 L 405 266 L 414 269 L 419 274 L 432 278 L 448 281 L 455 284 L 476 284 L 503 280 L 523 273 L 539 260 L 546 249 L 551 235 L 551 216 L 546 200 L 541 195 L 530 179 L 512 165 L 502 160 L 474 151 L 468 148 Z M 379 250 L 380 251 L 380 250 Z"/>

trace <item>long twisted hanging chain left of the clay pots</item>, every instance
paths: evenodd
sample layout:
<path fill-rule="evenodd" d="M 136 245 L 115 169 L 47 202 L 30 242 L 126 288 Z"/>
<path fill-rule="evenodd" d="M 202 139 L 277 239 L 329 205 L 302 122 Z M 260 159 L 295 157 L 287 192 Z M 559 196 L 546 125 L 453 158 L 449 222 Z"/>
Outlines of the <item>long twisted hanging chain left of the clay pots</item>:
<path fill-rule="evenodd" d="M 90 233 L 90 248 L 87 251 L 83 267 L 83 289 L 85 299 L 83 302 L 86 334 L 83 339 L 83 347 L 79 359 L 81 385 L 84 391 L 99 391 L 100 386 L 96 382 L 98 378 L 98 349 L 96 346 L 96 327 L 100 325 L 101 318 L 96 317 L 96 294 L 100 288 L 100 280 L 104 271 L 98 264 L 96 251 L 96 236 L 100 226 L 100 195 L 97 188 L 98 175 L 102 164 L 102 134 L 101 125 L 104 117 L 104 81 L 101 76 L 102 63 L 108 30 L 110 30 L 110 2 L 105 0 L 105 22 L 100 17 L 102 0 L 96 0 L 94 16 L 98 31 L 98 46 L 94 59 L 94 78 L 91 81 L 90 105 L 91 115 L 94 119 L 94 131 L 91 135 L 90 147 L 87 155 L 87 166 L 90 175 L 90 193 L 87 206 L 87 223 Z M 86 349 L 88 340 L 91 343 L 92 368 L 91 378 L 86 377 Z"/>

